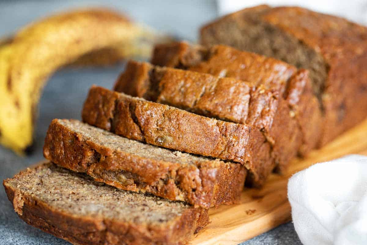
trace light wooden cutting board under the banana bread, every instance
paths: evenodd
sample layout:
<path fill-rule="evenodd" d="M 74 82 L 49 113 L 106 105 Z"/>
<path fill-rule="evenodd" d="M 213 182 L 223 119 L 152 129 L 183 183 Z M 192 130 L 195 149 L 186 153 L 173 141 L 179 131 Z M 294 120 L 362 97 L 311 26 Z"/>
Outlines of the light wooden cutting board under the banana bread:
<path fill-rule="evenodd" d="M 237 245 L 290 221 L 291 207 L 287 199 L 289 177 L 314 163 L 348 154 L 367 155 L 367 120 L 326 147 L 311 152 L 308 158 L 293 161 L 286 175 L 272 174 L 262 189 L 247 188 L 242 192 L 239 204 L 211 208 L 211 223 L 191 244 Z"/>

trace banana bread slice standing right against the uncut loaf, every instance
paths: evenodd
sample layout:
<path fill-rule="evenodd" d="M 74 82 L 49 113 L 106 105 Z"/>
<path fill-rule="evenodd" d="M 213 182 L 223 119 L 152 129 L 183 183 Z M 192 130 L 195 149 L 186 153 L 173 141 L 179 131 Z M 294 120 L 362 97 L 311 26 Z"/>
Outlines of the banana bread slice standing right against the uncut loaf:
<path fill-rule="evenodd" d="M 316 148 L 321 133 L 321 111 L 317 98 L 312 93 L 312 83 L 309 72 L 297 70 L 274 58 L 263 55 L 240 51 L 225 45 L 214 45 L 210 48 L 190 45 L 187 42 L 174 42 L 156 45 L 153 51 L 151 63 L 153 65 L 167 66 L 189 71 L 210 73 L 214 76 L 235 78 L 243 81 L 251 81 L 255 87 L 251 90 L 252 97 L 259 90 L 256 87 L 265 86 L 275 90 L 280 89 L 280 105 L 288 104 L 288 107 L 278 106 L 275 114 L 282 114 L 287 120 L 274 120 L 273 128 L 281 128 L 278 135 L 272 138 L 276 142 L 275 151 L 281 145 L 289 145 L 284 134 L 294 134 L 293 120 L 297 121 L 301 129 L 302 145 L 299 154 L 305 156 L 311 149 Z M 121 80 L 119 82 L 122 82 Z M 132 84 L 130 82 L 130 87 Z M 251 102 L 253 103 L 252 98 Z M 282 115 L 282 116 L 284 116 Z M 276 118 L 276 116 L 274 116 Z M 284 122 L 288 122 L 288 125 Z M 280 125 L 277 125 L 281 123 Z M 294 126 L 293 126 L 294 127 Z M 271 129 L 270 129 L 271 130 Z M 271 132 L 270 132 L 271 133 Z M 282 155 L 284 151 L 282 152 Z"/>

